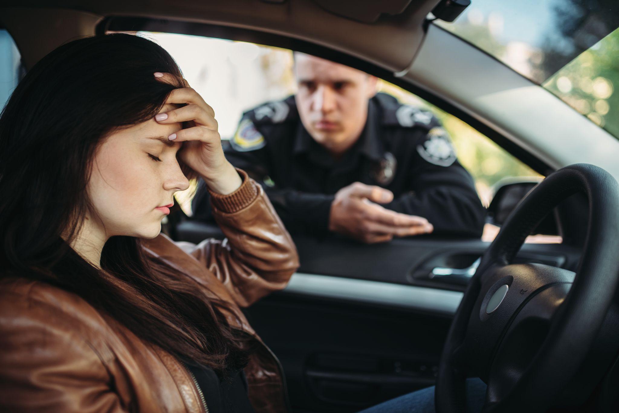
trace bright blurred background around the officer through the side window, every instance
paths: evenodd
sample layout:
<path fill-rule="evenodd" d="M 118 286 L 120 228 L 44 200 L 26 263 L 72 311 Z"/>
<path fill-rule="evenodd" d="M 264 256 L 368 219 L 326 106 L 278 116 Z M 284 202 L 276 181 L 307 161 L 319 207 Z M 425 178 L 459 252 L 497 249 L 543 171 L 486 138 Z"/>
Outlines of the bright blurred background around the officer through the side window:
<path fill-rule="evenodd" d="M 138 33 L 156 41 L 173 56 L 191 87 L 214 108 L 222 139 L 233 136 L 243 111 L 296 92 L 290 50 L 192 35 Z M 493 186 L 503 178 L 539 178 L 539 174 L 455 116 L 383 80 L 379 81 L 379 91 L 438 116 L 451 136 L 459 161 L 473 176 L 485 206 L 490 203 Z M 176 195 L 188 215 L 192 215 L 189 194 L 195 184 Z"/>

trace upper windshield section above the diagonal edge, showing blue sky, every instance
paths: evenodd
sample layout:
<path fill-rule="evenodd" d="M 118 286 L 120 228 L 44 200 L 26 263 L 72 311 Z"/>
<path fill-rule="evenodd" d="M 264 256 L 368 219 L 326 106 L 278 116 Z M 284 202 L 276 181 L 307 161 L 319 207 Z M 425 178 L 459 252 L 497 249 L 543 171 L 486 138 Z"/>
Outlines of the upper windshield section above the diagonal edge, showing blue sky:
<path fill-rule="evenodd" d="M 619 27 L 617 0 L 474 0 L 435 24 L 541 84 Z"/>

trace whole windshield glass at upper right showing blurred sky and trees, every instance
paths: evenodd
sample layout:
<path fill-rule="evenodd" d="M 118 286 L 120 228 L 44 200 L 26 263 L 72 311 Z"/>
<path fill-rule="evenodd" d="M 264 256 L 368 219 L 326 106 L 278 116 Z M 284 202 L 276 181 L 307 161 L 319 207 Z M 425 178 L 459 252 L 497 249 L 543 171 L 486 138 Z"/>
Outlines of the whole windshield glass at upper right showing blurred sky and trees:
<path fill-rule="evenodd" d="M 435 23 L 619 137 L 617 0 L 473 0 Z"/>

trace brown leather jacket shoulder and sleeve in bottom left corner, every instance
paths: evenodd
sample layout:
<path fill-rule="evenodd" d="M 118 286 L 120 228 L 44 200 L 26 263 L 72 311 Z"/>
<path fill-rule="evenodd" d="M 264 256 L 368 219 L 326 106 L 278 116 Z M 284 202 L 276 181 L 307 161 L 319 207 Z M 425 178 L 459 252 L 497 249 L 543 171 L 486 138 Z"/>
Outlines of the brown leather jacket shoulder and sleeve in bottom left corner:
<path fill-rule="evenodd" d="M 79 298 L 18 283 L 0 305 L 0 411 L 126 412 L 105 363 L 82 337 Z"/>

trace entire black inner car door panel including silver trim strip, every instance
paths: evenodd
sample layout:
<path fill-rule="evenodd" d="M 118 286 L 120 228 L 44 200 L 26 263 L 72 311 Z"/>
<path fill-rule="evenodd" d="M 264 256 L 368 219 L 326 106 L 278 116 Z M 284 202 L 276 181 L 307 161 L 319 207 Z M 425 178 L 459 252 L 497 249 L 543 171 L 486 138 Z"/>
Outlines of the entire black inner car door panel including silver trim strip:
<path fill-rule="evenodd" d="M 175 237 L 197 243 L 223 233 L 216 225 L 184 220 Z M 301 266 L 287 288 L 245 309 L 282 362 L 293 411 L 355 412 L 433 385 L 466 282 L 428 274 L 466 269 L 490 243 L 293 238 Z M 579 248 L 525 244 L 516 261 L 573 271 L 578 259 Z"/>

